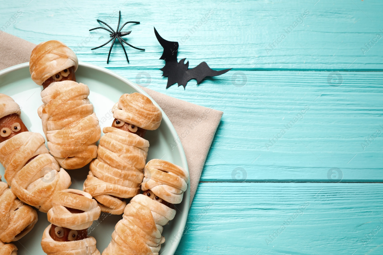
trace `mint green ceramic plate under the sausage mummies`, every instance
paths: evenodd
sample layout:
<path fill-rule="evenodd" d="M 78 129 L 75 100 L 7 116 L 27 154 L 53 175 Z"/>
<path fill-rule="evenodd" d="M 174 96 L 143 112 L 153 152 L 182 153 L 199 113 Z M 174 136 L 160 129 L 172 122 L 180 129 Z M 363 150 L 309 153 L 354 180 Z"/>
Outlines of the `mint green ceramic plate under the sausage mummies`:
<path fill-rule="evenodd" d="M 137 84 L 132 83 L 123 76 L 106 68 L 88 63 L 79 63 L 79 68 L 76 71 L 76 81 L 88 85 L 90 89 L 89 99 L 93 103 L 96 115 L 100 120 L 101 130 L 103 127 L 111 125 L 113 117 L 110 110 L 122 94 L 138 92 L 150 98 Z M 11 96 L 20 105 L 21 119 L 29 131 L 44 135 L 41 120 L 37 114 L 37 109 L 42 104 L 40 97 L 41 89 L 41 86 L 36 85 L 31 80 L 29 63 L 15 65 L 0 71 L 0 93 Z M 154 102 L 154 104 L 156 103 Z M 147 160 L 149 161 L 154 158 L 164 159 L 188 169 L 182 145 L 175 142 L 179 141 L 178 135 L 164 112 L 162 112 L 162 116 L 160 127 L 155 131 L 148 131 L 146 133 L 145 138 L 149 140 L 150 143 Z M 103 135 L 102 132 L 101 135 Z M 178 146 L 174 148 L 175 144 Z M 88 166 L 82 169 L 68 170 L 67 172 L 72 178 L 70 188 L 82 190 L 82 185 L 87 177 L 88 171 Z M 1 165 L 0 174 L 4 174 L 4 168 Z M 172 255 L 177 249 L 185 228 L 189 201 L 190 187 L 188 187 L 185 192 L 182 203 L 177 205 L 175 218 L 169 222 L 169 225 L 164 227 L 162 235 L 165 236 L 166 241 L 165 244 L 161 245 L 160 254 Z M 38 215 L 38 223 L 32 231 L 19 241 L 14 242 L 18 247 L 19 255 L 45 254 L 41 249 L 40 242 L 43 231 L 49 225 L 49 222 L 47 221 L 45 213 L 38 212 Z M 90 227 L 90 229 L 93 229 L 93 231 L 90 232 L 90 236 L 95 237 L 97 240 L 97 249 L 101 253 L 106 246 L 108 246 L 114 227 L 121 218 L 122 215 L 101 213 L 98 221 L 94 221 L 92 227 Z"/>

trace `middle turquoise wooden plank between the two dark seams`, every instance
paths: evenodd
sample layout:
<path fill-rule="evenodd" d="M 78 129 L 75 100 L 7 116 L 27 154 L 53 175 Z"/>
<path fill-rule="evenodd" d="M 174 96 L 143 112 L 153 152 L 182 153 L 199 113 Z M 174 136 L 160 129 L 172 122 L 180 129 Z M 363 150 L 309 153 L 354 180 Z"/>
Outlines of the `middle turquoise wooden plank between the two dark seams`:
<path fill-rule="evenodd" d="M 340 72 L 339 87 L 329 85 L 329 71 L 243 71 L 243 87 L 233 85 L 231 72 L 198 86 L 190 81 L 183 90 L 165 89 L 159 70 L 115 71 L 224 112 L 202 181 L 383 180 L 381 72 Z"/>

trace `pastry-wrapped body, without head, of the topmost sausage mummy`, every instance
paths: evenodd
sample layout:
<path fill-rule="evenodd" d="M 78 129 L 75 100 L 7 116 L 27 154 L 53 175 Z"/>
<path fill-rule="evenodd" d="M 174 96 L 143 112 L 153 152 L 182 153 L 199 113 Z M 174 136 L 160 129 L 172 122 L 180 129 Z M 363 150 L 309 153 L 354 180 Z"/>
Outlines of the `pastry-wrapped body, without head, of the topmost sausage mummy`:
<path fill-rule="evenodd" d="M 54 82 L 41 91 L 38 114 L 48 148 L 65 169 L 83 167 L 97 156 L 101 129 L 88 95 L 88 86 L 75 81 Z"/>

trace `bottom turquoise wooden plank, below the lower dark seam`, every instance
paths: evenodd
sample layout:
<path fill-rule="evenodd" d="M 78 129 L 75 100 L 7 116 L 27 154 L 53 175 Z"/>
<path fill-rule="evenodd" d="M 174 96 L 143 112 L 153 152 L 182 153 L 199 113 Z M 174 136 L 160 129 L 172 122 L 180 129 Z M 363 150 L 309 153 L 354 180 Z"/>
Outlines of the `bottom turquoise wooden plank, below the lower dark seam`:
<path fill-rule="evenodd" d="M 382 254 L 382 195 L 382 184 L 201 183 L 176 254 Z"/>

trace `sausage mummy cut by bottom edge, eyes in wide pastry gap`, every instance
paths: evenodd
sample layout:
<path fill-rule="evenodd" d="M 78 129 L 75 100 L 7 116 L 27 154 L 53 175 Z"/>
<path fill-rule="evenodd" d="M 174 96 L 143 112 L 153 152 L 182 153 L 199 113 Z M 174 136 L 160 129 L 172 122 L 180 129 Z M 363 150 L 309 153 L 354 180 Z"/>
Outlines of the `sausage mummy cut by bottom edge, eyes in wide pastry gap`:
<path fill-rule="evenodd" d="M 49 225 L 43 233 L 41 247 L 48 255 L 99 255 L 96 240 L 87 228 L 100 216 L 100 207 L 92 196 L 81 190 L 56 192 L 47 216 Z"/>

